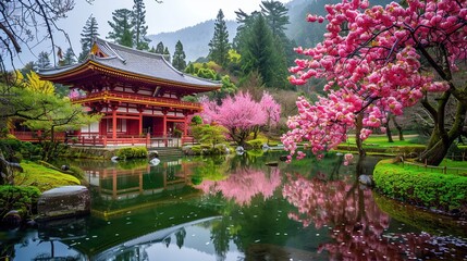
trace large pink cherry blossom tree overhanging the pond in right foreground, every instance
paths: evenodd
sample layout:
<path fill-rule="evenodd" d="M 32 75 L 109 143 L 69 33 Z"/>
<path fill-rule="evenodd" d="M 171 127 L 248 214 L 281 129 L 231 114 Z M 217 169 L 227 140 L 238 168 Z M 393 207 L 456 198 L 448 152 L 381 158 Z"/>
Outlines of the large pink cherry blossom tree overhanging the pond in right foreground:
<path fill-rule="evenodd" d="M 305 141 L 319 154 L 344 141 L 349 129 L 365 140 L 372 128 L 384 126 L 388 113 L 401 115 L 421 101 L 435 126 L 419 160 L 439 164 L 465 124 L 467 87 L 455 72 L 466 58 L 466 5 L 407 0 L 404 7 L 369 8 L 367 0 L 344 0 L 325 5 L 325 17 L 309 15 L 309 22 L 325 18 L 328 33 L 314 48 L 296 48 L 308 59 L 296 60 L 290 80 L 324 78 L 328 96 L 314 104 L 298 99 L 298 115 L 288 119 L 291 130 L 282 137 L 285 149 L 293 156 Z M 448 102 L 457 107 L 451 126 Z"/>

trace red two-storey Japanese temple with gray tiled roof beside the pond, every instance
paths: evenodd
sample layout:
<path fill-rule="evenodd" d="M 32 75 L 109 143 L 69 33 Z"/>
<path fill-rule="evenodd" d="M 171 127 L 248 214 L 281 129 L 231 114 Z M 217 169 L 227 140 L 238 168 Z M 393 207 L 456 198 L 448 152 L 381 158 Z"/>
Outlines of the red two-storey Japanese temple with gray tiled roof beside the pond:
<path fill-rule="evenodd" d="M 73 102 L 102 113 L 100 122 L 74 134 L 82 145 L 148 144 L 151 138 L 167 146 L 171 137 L 183 140 L 188 137 L 189 116 L 201 105 L 182 98 L 221 87 L 219 82 L 179 72 L 161 54 L 99 38 L 84 62 L 41 70 L 39 76 L 70 86 Z"/>

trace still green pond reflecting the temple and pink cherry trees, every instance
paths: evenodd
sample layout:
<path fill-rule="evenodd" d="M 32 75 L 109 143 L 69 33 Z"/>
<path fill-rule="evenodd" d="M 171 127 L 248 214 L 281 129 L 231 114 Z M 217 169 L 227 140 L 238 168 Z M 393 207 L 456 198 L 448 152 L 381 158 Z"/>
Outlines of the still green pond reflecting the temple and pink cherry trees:
<path fill-rule="evenodd" d="M 467 260 L 465 220 L 379 196 L 340 156 L 279 156 L 67 162 L 86 173 L 91 214 L 0 232 L 0 259 Z"/>

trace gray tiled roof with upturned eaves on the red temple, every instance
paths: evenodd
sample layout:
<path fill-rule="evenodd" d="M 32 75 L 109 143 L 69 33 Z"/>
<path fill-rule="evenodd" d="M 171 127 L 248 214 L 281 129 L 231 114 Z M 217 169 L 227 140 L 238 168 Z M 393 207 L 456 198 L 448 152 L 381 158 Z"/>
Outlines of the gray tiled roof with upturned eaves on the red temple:
<path fill-rule="evenodd" d="M 96 38 L 95 44 L 98 45 L 99 49 L 108 57 L 99 58 L 91 54 L 81 64 L 57 67 L 53 70 L 44 70 L 40 71 L 39 74 L 44 76 L 52 76 L 54 74 L 64 73 L 78 67 L 90 60 L 108 67 L 157 79 L 165 79 L 191 86 L 221 87 L 220 82 L 199 78 L 177 71 L 168 61 L 165 61 L 161 54 L 135 50 L 108 42 L 100 38 Z"/>

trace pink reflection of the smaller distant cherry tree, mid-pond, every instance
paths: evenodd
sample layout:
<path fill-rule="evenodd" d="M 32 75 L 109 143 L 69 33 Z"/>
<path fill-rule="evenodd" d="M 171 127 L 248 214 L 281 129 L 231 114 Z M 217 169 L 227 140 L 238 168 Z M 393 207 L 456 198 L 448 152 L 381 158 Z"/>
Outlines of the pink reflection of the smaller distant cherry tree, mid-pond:
<path fill-rule="evenodd" d="M 204 181 L 197 188 L 208 195 L 221 192 L 226 199 L 234 200 L 239 206 L 248 206 L 255 196 L 270 198 L 281 185 L 278 167 L 262 170 L 238 169 L 226 179 L 212 182 Z"/>

